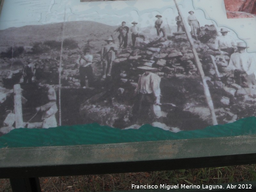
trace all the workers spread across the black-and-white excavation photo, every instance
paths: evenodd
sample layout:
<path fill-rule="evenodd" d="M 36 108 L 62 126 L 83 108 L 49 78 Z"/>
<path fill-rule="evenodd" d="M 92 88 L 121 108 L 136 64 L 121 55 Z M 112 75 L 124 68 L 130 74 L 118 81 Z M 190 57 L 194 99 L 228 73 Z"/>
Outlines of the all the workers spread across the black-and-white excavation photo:
<path fill-rule="evenodd" d="M 191 34 L 197 35 L 200 32 L 200 25 L 194 16 L 194 12 L 188 12 L 190 15 L 188 16 L 188 24 L 191 27 Z M 155 28 L 157 35 L 160 36 L 163 33 L 163 37 L 166 36 L 166 32 L 163 26 L 163 20 L 161 15 L 156 15 Z M 177 31 L 184 31 L 184 26 L 181 22 L 180 16 L 175 18 L 177 22 Z M 137 27 L 137 22 L 132 22 L 133 26 L 128 28 L 126 26 L 126 22 L 123 21 L 122 25 L 118 27 L 114 32 L 118 32 L 119 39 L 119 48 L 127 47 L 128 41 L 128 32 L 129 30 L 132 32 L 132 46 L 135 46 L 136 38 L 140 37 L 144 40 L 146 39 L 145 34 L 141 33 L 139 28 Z M 247 53 L 245 49 L 247 48 L 244 42 L 236 43 L 235 40 L 228 36 L 228 29 L 221 28 L 220 36 L 217 36 L 215 39 L 215 50 L 220 50 L 223 52 L 227 52 L 230 57 L 227 70 L 234 71 L 234 76 L 236 80 L 236 84 L 243 85 L 244 79 L 250 79 L 252 85 L 256 85 L 254 72 L 256 71 L 256 62 L 251 54 Z M 106 79 L 111 76 L 111 69 L 113 61 L 116 59 L 116 52 L 118 47 L 114 43 L 113 36 L 110 36 L 107 40 L 105 40 L 107 44 L 103 46 L 101 50 L 101 62 L 103 67 L 103 75 L 102 79 Z M 235 52 L 237 50 L 237 52 Z M 92 71 L 92 60 L 93 56 L 90 54 L 90 49 L 85 48 L 84 53 L 80 55 L 78 59 L 79 64 L 79 76 L 80 76 L 80 85 L 83 88 L 89 88 L 92 86 L 93 82 L 93 71 Z M 35 74 L 35 69 L 31 64 L 33 60 L 28 60 L 28 64 L 24 68 L 24 83 L 30 83 Z M 86 78 L 87 77 L 87 78 Z M 154 116 L 156 118 L 160 118 L 159 110 L 161 109 L 156 106 L 160 106 L 160 81 L 161 78 L 149 71 L 143 73 L 138 81 L 138 85 L 135 89 L 135 94 L 137 95 L 137 104 L 134 105 L 134 116 L 138 118 L 140 116 L 140 111 L 143 106 L 148 106 L 151 111 L 154 112 Z M 43 127 L 54 127 L 57 126 L 57 121 L 55 118 L 55 113 L 57 112 L 56 105 L 56 93 L 51 85 L 49 84 L 40 84 L 47 90 L 48 94 L 48 103 L 37 107 L 37 111 L 43 111 L 44 115 L 43 119 Z M 157 109 L 157 110 L 155 110 Z M 158 115 L 157 115 L 158 114 Z M 160 113 L 161 114 L 161 113 Z"/>

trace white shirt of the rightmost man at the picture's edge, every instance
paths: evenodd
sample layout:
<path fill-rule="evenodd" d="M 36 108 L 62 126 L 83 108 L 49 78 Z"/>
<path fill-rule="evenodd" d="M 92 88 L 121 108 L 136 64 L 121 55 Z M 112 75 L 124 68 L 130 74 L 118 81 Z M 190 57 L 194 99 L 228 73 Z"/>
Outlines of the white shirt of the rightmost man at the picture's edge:
<path fill-rule="evenodd" d="M 250 53 L 233 53 L 228 63 L 228 69 L 230 70 L 241 70 L 251 75 L 256 71 L 256 62 Z"/>

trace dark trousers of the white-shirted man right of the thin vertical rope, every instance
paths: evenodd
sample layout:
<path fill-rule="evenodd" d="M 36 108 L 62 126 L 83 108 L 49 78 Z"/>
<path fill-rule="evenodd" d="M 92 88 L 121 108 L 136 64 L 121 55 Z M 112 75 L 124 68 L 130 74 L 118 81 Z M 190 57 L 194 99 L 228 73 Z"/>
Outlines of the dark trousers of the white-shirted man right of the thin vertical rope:
<path fill-rule="evenodd" d="M 80 67 L 79 68 L 79 76 L 80 76 L 80 85 L 81 87 L 86 86 L 86 77 L 88 80 L 88 85 L 89 87 L 92 86 L 93 83 L 93 71 L 92 71 L 92 66 L 89 65 L 87 67 Z"/>

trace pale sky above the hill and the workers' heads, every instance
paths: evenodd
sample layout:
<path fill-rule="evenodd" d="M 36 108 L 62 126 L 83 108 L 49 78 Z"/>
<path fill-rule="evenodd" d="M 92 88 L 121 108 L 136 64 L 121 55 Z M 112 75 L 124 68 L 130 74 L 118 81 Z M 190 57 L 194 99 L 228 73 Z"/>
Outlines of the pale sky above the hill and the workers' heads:
<path fill-rule="evenodd" d="M 249 51 L 256 51 L 254 39 L 255 18 L 227 19 L 222 0 L 177 0 L 185 18 L 194 11 L 201 26 L 214 24 L 218 30 L 228 27 L 237 41 L 244 39 Z M 14 14 L 15 13 L 15 14 Z M 175 26 L 178 15 L 172 0 L 137 0 L 80 2 L 80 0 L 6 0 L 1 12 L 0 29 L 25 25 L 44 25 L 63 21 L 96 21 L 111 26 L 126 21 L 140 28 L 153 26 L 156 14 L 163 16 L 164 24 Z M 211 19 L 210 19 L 211 18 Z"/>

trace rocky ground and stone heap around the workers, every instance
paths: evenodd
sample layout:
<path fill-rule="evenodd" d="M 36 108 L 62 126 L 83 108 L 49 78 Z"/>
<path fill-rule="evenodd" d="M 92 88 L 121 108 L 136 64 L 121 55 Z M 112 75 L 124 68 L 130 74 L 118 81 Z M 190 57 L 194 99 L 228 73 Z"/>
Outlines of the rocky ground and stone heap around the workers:
<path fill-rule="evenodd" d="M 213 49 L 216 34 L 214 26 L 201 27 L 201 32 L 197 40 L 195 38 L 194 43 L 207 76 L 218 123 L 225 124 L 255 115 L 256 91 L 246 85 L 241 87 L 235 84 L 233 74 L 225 72 L 229 57 L 228 53 Z M 139 76 L 145 71 L 141 67 L 150 67 L 151 72 L 162 78 L 160 87 L 163 121 L 152 122 L 149 116 L 143 120 L 143 124 L 151 123 L 153 126 L 160 126 L 174 132 L 202 129 L 212 124 L 201 78 L 185 34 L 169 35 L 167 39 L 148 36 L 146 41 L 137 38 L 136 48 L 128 46 L 126 49 L 119 50 L 113 64 L 112 77 L 107 80 L 101 79 L 100 52 L 92 48 L 94 52 L 93 89 L 80 87 L 77 64 L 79 50 L 78 47 L 63 50 L 62 125 L 97 122 L 122 129 L 139 128 L 140 125 L 132 121 L 132 106 L 135 100 L 134 89 Z M 36 78 L 47 79 L 58 94 L 59 55 L 60 51 L 56 49 L 48 49 L 40 54 L 31 54 L 25 50 L 19 58 L 15 58 L 15 61 L 11 58 L 1 60 L 3 81 L 0 89 L 0 120 L 2 127 L 11 126 L 3 122 L 8 115 L 6 111 L 13 110 L 12 86 L 19 83 L 19 71 L 22 70 L 28 58 L 36 60 Z M 220 78 L 216 77 L 211 55 L 214 56 L 214 61 L 220 71 Z M 10 76 L 11 68 L 12 76 Z M 28 99 L 23 108 L 24 122 L 33 116 L 34 108 L 43 102 L 43 99 L 31 99 L 40 98 L 40 91 L 36 91 L 36 84 L 33 86 L 32 88 L 21 83 L 24 90 L 23 96 Z M 33 121 L 40 121 L 40 117 L 36 117 Z M 1 128 L 1 130 L 5 133 L 3 131 L 5 129 Z"/>

